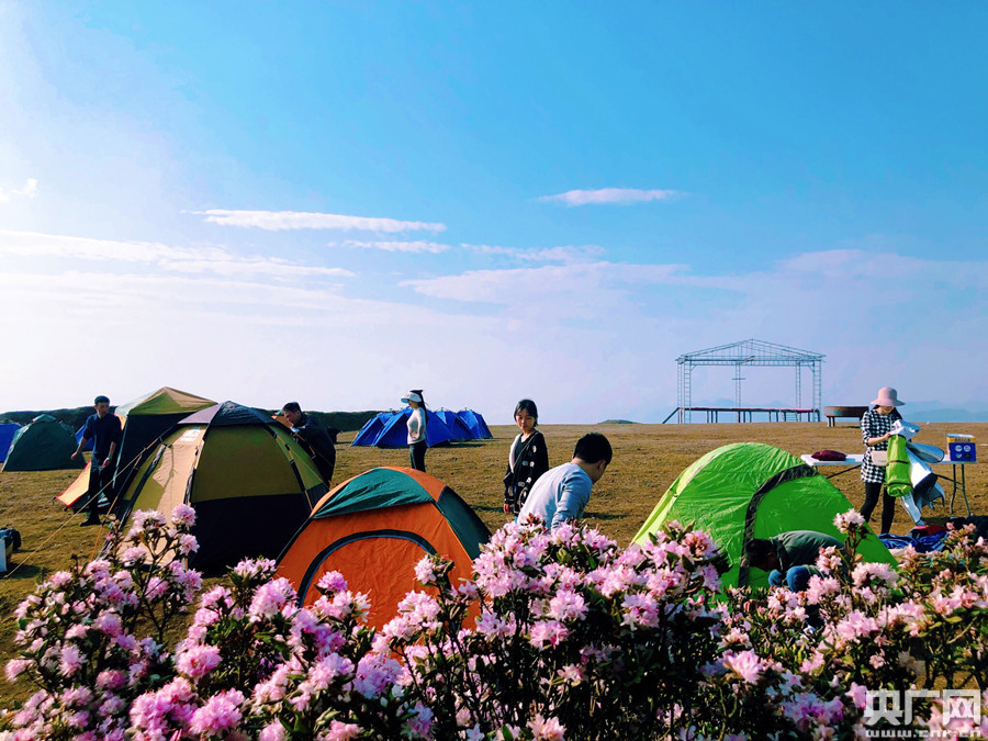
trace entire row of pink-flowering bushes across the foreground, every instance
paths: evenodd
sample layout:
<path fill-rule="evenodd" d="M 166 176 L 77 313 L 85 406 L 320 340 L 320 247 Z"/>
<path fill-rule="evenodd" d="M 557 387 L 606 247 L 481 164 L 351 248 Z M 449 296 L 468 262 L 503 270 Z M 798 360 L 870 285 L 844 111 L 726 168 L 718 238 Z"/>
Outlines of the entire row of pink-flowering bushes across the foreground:
<path fill-rule="evenodd" d="M 37 692 L 0 738 L 864 738 L 880 728 L 868 689 L 988 689 L 988 547 L 965 532 L 895 571 L 861 561 L 847 513 L 845 549 L 821 554 L 805 593 L 752 594 L 721 592 L 716 544 L 677 524 L 621 550 L 574 524 L 512 523 L 471 582 L 424 558 L 423 588 L 375 632 L 340 574 L 302 608 L 267 560 L 193 609 L 193 517 L 138 513 L 104 558 L 19 607 L 7 673 Z M 964 731 L 925 703 L 931 730 Z"/>

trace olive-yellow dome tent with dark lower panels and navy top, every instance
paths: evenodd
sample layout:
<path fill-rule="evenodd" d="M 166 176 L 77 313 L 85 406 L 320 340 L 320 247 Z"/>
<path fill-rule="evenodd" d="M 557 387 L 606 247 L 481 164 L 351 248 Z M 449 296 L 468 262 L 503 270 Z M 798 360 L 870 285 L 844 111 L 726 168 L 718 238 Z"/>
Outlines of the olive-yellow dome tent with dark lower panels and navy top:
<path fill-rule="evenodd" d="M 224 402 L 187 416 L 145 451 L 119 509 L 126 520 L 139 509 L 168 517 L 176 505 L 192 505 L 199 551 L 189 561 L 206 569 L 277 558 L 325 493 L 290 430 L 257 409 Z"/>

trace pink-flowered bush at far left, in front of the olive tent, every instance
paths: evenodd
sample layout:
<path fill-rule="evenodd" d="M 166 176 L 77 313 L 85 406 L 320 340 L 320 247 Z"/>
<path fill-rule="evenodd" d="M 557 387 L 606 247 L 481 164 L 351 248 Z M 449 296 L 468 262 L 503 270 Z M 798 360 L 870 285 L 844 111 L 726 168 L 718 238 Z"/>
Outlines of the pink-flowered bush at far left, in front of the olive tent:
<path fill-rule="evenodd" d="M 74 560 L 18 607 L 7 677 L 38 691 L 13 715 L 14 738 L 123 739 L 131 704 L 170 675 L 165 633 L 202 584 L 180 560 L 197 548 L 194 519 L 186 505 L 170 523 L 137 513 L 126 536 L 111 528 L 104 558 Z"/>

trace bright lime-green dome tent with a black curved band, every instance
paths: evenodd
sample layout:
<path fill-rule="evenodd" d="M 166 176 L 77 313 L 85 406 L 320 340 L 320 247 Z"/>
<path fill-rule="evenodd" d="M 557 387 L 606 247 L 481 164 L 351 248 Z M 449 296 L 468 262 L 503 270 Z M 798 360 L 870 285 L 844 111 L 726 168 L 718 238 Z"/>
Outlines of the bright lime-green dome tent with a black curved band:
<path fill-rule="evenodd" d="M 767 586 L 768 575 L 749 571 L 741 555 L 752 538 L 789 530 L 817 530 L 843 540 L 833 518 L 851 503 L 812 467 L 762 442 L 734 442 L 694 461 L 662 495 L 632 542 L 677 520 L 710 534 L 730 560 L 725 586 Z M 868 531 L 858 547 L 866 561 L 895 564 L 880 540 Z"/>

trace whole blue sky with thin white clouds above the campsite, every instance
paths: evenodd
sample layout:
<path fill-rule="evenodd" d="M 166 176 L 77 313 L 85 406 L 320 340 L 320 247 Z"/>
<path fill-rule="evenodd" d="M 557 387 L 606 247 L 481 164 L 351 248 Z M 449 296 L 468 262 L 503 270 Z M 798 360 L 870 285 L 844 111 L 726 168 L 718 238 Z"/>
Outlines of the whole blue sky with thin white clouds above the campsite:
<path fill-rule="evenodd" d="M 748 338 L 824 353 L 824 404 L 985 406 L 986 21 L 0 0 L 0 409 L 659 422 L 678 355 Z"/>

